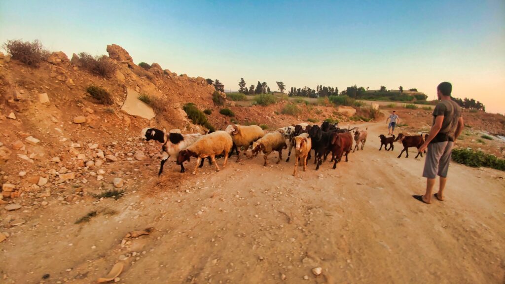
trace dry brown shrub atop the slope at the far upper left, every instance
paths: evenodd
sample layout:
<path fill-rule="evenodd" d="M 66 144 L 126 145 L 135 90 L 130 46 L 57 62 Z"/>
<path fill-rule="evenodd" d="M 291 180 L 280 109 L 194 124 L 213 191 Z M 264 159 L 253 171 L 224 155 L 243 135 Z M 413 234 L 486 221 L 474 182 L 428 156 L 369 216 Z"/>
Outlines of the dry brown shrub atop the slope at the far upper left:
<path fill-rule="evenodd" d="M 4 49 L 12 55 L 13 59 L 19 60 L 28 66 L 38 67 L 40 62 L 45 61 L 49 52 L 45 50 L 38 39 L 30 41 L 7 40 Z"/>

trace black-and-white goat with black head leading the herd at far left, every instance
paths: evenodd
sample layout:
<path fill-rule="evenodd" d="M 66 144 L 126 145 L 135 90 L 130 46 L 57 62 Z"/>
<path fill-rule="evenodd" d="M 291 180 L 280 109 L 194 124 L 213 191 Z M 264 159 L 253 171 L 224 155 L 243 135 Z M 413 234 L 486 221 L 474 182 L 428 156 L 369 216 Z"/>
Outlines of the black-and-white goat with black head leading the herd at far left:
<path fill-rule="evenodd" d="M 160 170 L 158 171 L 158 176 L 163 172 L 163 165 L 170 158 L 170 156 L 177 157 L 181 150 L 186 149 L 188 146 L 193 144 L 196 140 L 203 137 L 203 134 L 181 134 L 181 133 L 166 133 L 165 129 L 160 130 L 156 128 L 144 128 L 140 132 L 140 137 L 142 140 L 156 140 L 162 144 L 162 160 L 160 164 Z M 209 158 L 209 163 L 211 159 Z M 181 173 L 185 172 L 184 165 L 181 165 Z M 201 161 L 200 167 L 204 165 L 204 161 Z"/>

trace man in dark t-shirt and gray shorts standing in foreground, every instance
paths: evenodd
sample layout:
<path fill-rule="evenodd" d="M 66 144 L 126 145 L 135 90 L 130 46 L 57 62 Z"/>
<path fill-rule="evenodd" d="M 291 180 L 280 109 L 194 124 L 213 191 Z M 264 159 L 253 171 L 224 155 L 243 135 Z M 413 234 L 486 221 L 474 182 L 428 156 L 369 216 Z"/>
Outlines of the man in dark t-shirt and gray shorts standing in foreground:
<path fill-rule="evenodd" d="M 461 107 L 450 98 L 452 85 L 442 82 L 437 86 L 438 103 L 433 110 L 433 126 L 424 144 L 419 148 L 423 152 L 428 148 L 424 162 L 423 176 L 426 180 L 426 193 L 413 197 L 424 203 L 431 203 L 431 193 L 435 185 L 435 177 L 440 176 L 440 187 L 434 196 L 443 201 L 443 191 L 447 181 L 447 171 L 454 141 L 463 131 L 463 117 Z"/>

